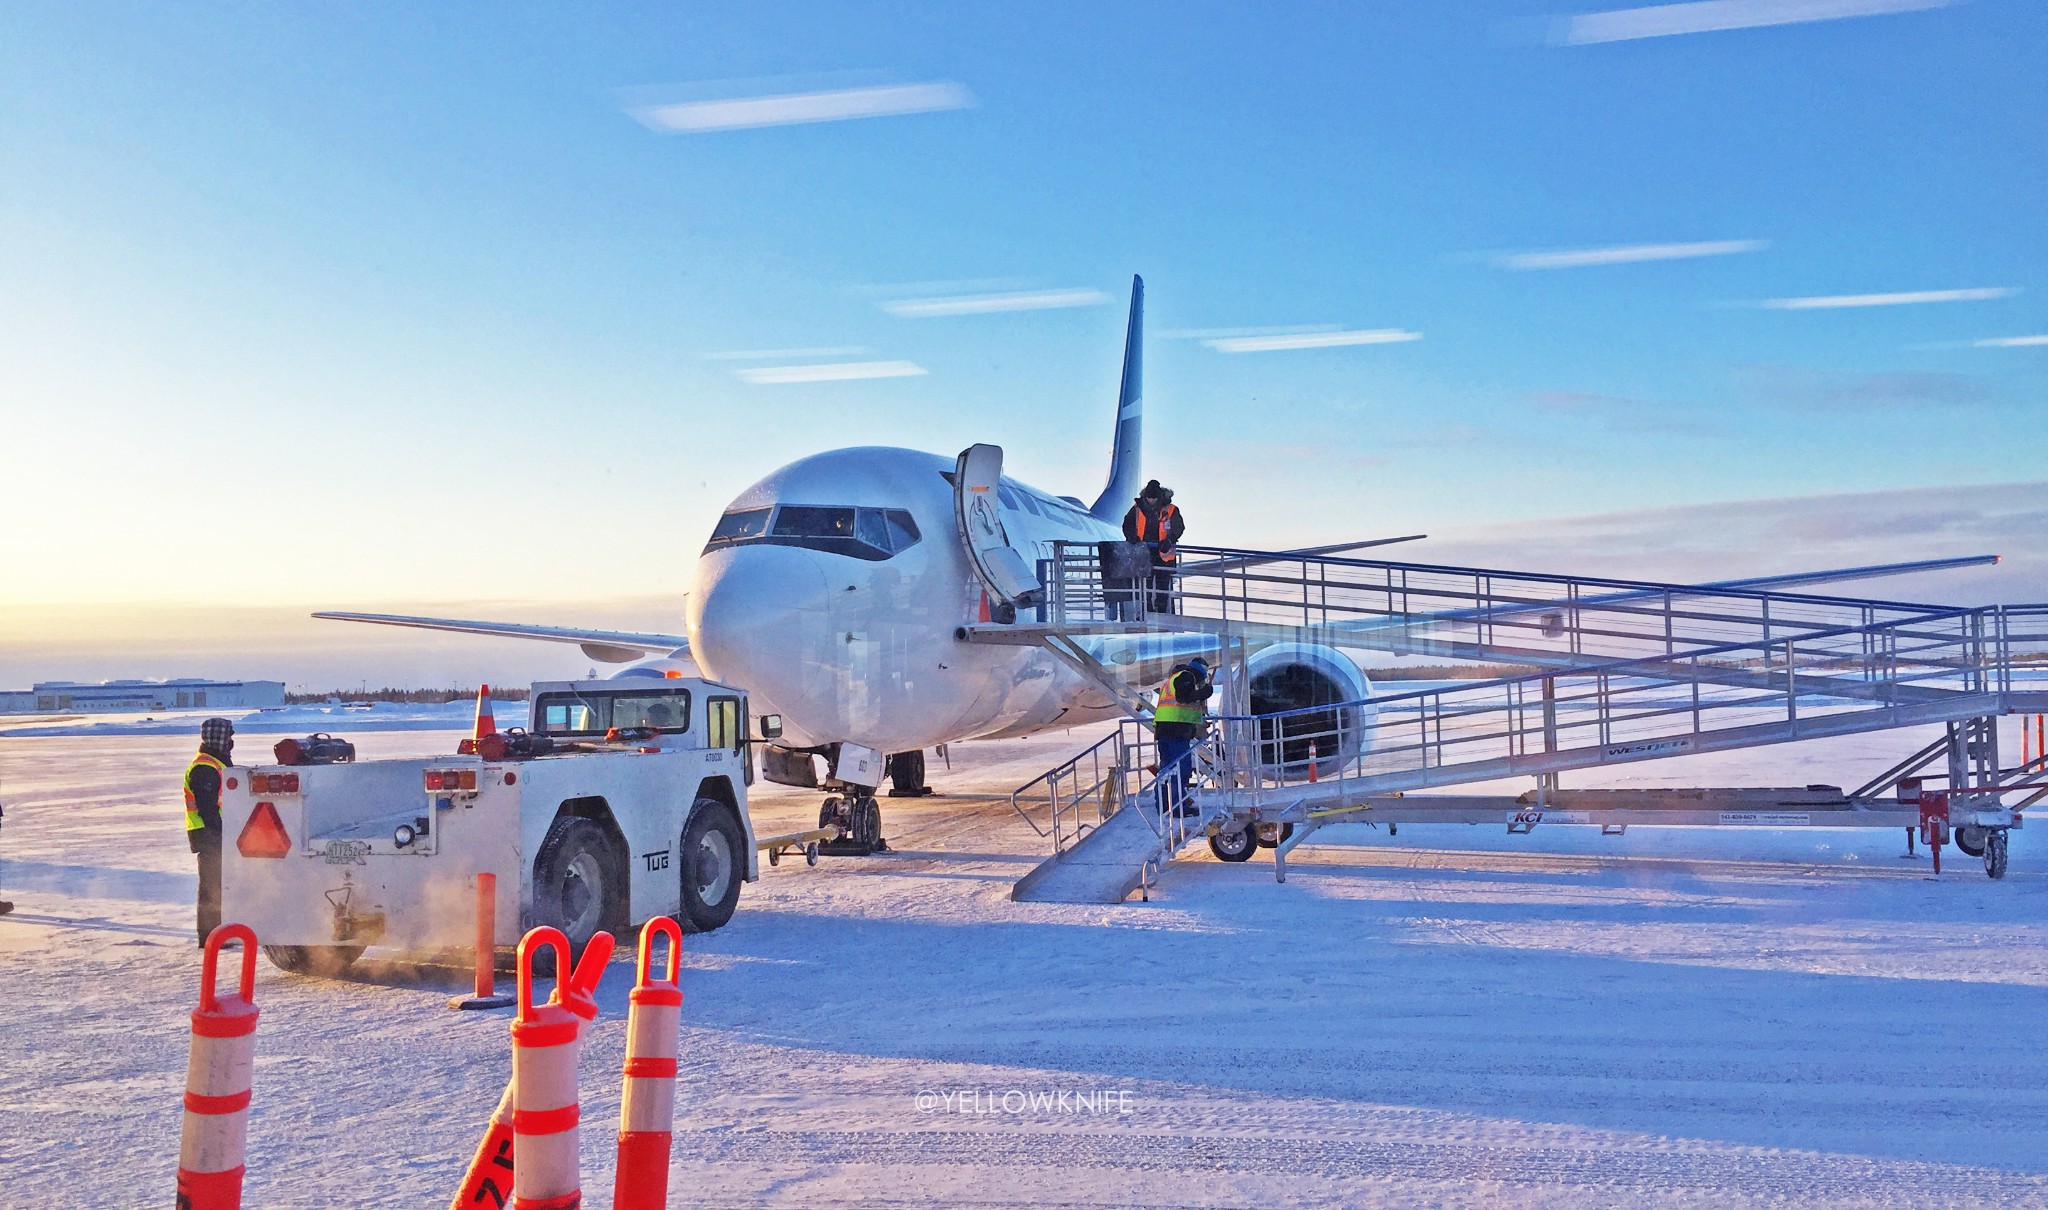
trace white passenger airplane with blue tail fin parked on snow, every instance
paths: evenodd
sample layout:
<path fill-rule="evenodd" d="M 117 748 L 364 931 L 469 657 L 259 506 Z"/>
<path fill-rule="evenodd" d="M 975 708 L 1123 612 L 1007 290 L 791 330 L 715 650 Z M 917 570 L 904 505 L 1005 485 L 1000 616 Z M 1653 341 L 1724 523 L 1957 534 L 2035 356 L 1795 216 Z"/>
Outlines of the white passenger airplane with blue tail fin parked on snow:
<path fill-rule="evenodd" d="M 838 852 L 883 852 L 874 790 L 930 792 L 924 751 L 1001 739 L 1124 712 L 1118 694 L 1040 645 L 963 643 L 961 626 L 1008 620 L 1030 604 L 1034 559 L 1053 543 L 1122 541 L 1122 516 L 1143 477 L 1145 280 L 1130 283 L 1122 381 L 1108 481 L 1092 504 L 1001 473 L 1001 448 L 958 457 L 854 446 L 795 461 L 741 491 L 719 516 L 690 573 L 684 633 L 584 631 L 401 614 L 317 612 L 315 618 L 575 643 L 618 676 L 662 676 L 694 663 L 745 688 L 766 723 L 762 776 L 836 790 L 819 825 Z M 1419 538 L 1374 538 L 1288 551 L 1333 555 Z M 1839 569 L 1718 588 L 1812 584 L 1964 565 Z M 1126 686 L 1155 686 L 1212 635 L 1147 633 L 1083 639 Z M 1366 702 L 1372 682 L 1335 647 L 1274 643 L 1243 669 L 1253 712 Z M 768 735 L 770 729 L 778 731 Z M 1358 733 L 1362 729 L 1354 729 Z M 823 760 L 823 780 L 817 764 Z M 827 850 L 829 852 L 829 850 Z"/>

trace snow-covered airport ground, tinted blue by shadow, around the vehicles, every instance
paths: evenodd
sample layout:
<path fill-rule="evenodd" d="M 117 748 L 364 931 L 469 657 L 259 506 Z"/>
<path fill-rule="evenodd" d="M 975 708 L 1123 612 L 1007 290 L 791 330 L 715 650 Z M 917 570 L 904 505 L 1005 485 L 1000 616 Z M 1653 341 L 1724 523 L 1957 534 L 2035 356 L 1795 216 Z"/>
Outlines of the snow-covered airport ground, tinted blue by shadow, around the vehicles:
<path fill-rule="evenodd" d="M 897 856 L 764 868 L 688 940 L 672 1204 L 2048 1206 L 2030 833 L 1991 882 L 1901 860 L 1894 829 L 1343 827 L 1286 884 L 1196 852 L 1151 903 L 1012 903 L 1042 841 L 999 794 L 1090 739 L 956 745 L 946 796 L 885 798 Z M 1923 741 L 1606 784 L 1853 786 Z M 8 1208 L 172 1187 L 188 751 L 0 739 Z M 764 833 L 815 811 L 756 803 Z M 508 1013 L 444 1007 L 463 983 L 377 952 L 346 983 L 260 966 L 250 1206 L 442 1204 L 508 1073 Z M 629 983 L 584 1063 L 594 1206 Z"/>

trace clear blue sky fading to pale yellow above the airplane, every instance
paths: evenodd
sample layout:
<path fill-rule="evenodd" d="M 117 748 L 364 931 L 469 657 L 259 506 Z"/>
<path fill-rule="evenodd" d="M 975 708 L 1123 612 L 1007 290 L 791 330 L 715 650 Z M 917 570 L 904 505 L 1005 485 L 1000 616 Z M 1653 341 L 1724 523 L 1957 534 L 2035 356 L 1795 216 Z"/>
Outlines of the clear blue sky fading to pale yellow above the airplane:
<path fill-rule="evenodd" d="M 1087 495 L 1133 272 L 1217 541 L 2040 479 L 2048 8 L 1561 45 L 1620 6 L 10 6 L 0 606 L 672 594 L 836 444 Z M 633 113 L 877 86 L 971 104 Z M 1313 328 L 1419 340 L 1184 336 Z M 846 362 L 924 373 L 741 377 Z"/>

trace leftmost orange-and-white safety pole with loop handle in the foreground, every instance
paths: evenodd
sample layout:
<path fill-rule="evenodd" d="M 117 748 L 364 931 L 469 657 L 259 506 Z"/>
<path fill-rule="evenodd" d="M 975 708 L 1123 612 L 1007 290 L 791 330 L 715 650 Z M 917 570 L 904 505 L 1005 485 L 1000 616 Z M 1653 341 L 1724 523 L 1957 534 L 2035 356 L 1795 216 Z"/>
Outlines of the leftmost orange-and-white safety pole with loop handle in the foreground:
<path fill-rule="evenodd" d="M 221 946 L 242 942 L 242 987 L 213 987 Z M 193 1009 L 193 1054 L 184 1067 L 184 1134 L 178 1140 L 178 1210 L 240 1210 L 256 1071 L 256 934 L 225 923 L 207 936 Z"/>

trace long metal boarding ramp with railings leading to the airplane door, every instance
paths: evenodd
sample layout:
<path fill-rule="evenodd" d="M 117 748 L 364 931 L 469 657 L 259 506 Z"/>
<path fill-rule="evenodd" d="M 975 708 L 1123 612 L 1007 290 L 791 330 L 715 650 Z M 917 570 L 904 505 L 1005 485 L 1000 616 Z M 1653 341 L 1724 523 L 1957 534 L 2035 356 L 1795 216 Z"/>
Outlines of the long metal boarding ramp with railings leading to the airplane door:
<path fill-rule="evenodd" d="M 1898 571 L 1855 569 L 1806 579 Z M 1223 860 L 1286 856 L 1331 823 L 1630 823 L 1905 827 L 1939 870 L 1954 839 L 2005 874 L 2007 831 L 2048 796 L 2036 743 L 2048 712 L 2048 604 L 1952 608 L 1774 588 L 1536 575 L 1327 555 L 1182 549 L 1171 612 L 1108 588 L 1094 545 L 1040 561 L 1042 604 L 973 643 L 1042 645 L 1112 694 L 1128 719 L 1012 794 L 1053 856 L 1014 897 L 1120 903 L 1206 835 Z M 1135 620 L 1130 620 L 1135 618 Z M 1251 710 L 1247 659 L 1278 643 L 1489 661 L 1524 676 L 1284 712 Z M 1221 712 L 1186 788 L 1155 776 L 1137 667 L 1204 653 Z M 1139 678 L 1143 682 L 1143 678 Z M 2028 758 L 2003 764 L 2001 715 Z M 1944 735 L 1853 792 L 1565 790 L 1595 766 L 1942 723 Z M 1499 778 L 1505 794 L 1411 794 Z M 1935 788 L 1942 786 L 1942 788 Z"/>

